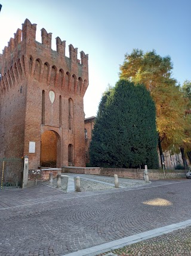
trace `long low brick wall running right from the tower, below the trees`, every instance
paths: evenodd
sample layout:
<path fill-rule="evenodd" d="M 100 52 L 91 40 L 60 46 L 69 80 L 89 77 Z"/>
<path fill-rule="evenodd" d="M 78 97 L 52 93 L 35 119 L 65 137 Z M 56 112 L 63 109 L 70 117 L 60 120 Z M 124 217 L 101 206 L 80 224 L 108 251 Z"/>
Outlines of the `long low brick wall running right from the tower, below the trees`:
<path fill-rule="evenodd" d="M 63 173 L 76 173 L 76 174 L 93 174 L 102 176 L 112 176 L 118 174 L 118 177 L 128 177 L 132 179 L 143 178 L 143 171 L 133 168 L 100 168 L 100 167 L 63 167 Z M 150 180 L 164 179 L 164 172 L 162 170 L 148 170 Z M 166 179 L 185 178 L 185 170 L 165 170 Z"/>

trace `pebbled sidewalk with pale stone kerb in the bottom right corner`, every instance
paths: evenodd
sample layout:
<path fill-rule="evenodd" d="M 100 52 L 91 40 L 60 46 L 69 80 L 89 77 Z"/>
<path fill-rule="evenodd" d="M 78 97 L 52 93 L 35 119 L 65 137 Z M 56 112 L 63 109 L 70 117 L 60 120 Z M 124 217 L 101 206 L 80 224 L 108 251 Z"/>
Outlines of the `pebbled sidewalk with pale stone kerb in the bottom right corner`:
<path fill-rule="evenodd" d="M 68 256 L 190 255 L 191 219 L 113 240 Z"/>

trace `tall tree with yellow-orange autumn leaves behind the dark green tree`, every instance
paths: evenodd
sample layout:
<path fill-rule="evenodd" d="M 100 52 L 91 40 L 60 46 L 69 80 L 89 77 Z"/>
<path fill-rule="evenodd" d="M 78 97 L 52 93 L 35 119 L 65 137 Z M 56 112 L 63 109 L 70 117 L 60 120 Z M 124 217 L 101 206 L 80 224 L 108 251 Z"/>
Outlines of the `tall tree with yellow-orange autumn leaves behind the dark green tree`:
<path fill-rule="evenodd" d="M 172 78 L 170 56 L 161 57 L 155 50 L 143 53 L 134 49 L 131 54 L 125 55 L 120 71 L 121 79 L 135 84 L 143 83 L 155 101 L 160 155 L 162 149 L 168 150 L 186 141 L 186 98 L 176 85 L 177 81 Z"/>

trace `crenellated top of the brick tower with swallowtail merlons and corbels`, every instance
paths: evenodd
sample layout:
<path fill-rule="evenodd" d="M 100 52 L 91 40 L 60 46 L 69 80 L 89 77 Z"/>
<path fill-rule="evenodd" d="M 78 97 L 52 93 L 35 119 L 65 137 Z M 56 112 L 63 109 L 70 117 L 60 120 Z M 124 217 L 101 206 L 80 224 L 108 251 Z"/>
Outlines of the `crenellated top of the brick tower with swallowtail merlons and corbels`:
<path fill-rule="evenodd" d="M 27 78 L 47 85 L 58 84 L 67 91 L 84 95 L 88 87 L 88 55 L 69 45 L 69 58 L 65 55 L 66 41 L 56 37 L 56 50 L 51 49 L 52 33 L 41 29 L 41 43 L 36 41 L 36 24 L 28 19 L 17 29 L 14 38 L 0 55 L 0 95 Z M 45 78 L 46 77 L 46 78 Z M 80 89 L 79 89 L 80 88 Z"/>

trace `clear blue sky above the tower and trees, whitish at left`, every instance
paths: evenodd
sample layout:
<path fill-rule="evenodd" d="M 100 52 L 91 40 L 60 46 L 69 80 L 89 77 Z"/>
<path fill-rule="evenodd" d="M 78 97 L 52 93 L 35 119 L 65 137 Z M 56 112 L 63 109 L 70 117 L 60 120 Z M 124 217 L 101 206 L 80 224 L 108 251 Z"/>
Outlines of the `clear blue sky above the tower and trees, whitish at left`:
<path fill-rule="evenodd" d="M 95 116 L 108 83 L 115 85 L 125 53 L 134 48 L 170 55 L 173 77 L 191 80 L 190 0 L 0 0 L 0 51 L 27 18 L 89 54 L 85 117 Z M 66 53 L 68 56 L 68 53 Z M 79 58 L 79 56 L 78 56 Z"/>

